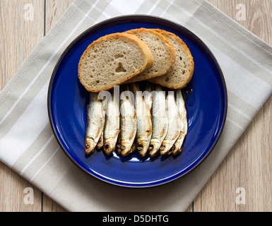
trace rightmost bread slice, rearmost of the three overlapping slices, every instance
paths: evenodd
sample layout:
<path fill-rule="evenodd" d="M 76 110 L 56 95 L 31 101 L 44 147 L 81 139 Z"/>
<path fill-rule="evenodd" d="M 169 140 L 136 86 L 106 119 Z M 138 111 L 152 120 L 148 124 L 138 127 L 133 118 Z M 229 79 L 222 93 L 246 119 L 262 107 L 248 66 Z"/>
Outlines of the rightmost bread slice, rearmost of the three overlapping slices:
<path fill-rule="evenodd" d="M 157 83 L 167 88 L 184 88 L 191 80 L 194 73 L 194 59 L 187 45 L 172 32 L 155 29 L 170 40 L 175 48 L 176 62 L 172 71 L 169 71 L 164 76 L 150 79 L 150 82 Z"/>

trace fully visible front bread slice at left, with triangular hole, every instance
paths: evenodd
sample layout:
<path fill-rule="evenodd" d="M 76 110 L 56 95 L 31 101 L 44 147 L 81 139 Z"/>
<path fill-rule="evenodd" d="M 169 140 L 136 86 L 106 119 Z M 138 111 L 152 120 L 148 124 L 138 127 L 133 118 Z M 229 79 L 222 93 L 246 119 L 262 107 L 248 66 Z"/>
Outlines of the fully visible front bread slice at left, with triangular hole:
<path fill-rule="evenodd" d="M 89 92 L 110 90 L 153 63 L 148 46 L 136 35 L 114 33 L 100 37 L 82 54 L 78 78 Z"/>

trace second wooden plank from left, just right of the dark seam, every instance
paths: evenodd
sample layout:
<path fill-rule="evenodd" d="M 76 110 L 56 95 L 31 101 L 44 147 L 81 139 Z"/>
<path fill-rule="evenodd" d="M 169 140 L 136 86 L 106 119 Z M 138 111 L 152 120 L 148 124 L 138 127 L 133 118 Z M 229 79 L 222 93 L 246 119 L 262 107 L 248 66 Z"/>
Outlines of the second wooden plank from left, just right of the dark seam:
<path fill-rule="evenodd" d="M 73 0 L 47 0 L 46 1 L 46 20 L 45 31 L 49 32 L 54 24 L 61 18 L 64 11 L 72 4 Z M 59 206 L 51 198 L 43 194 L 43 211 L 45 212 L 64 212 L 64 208 Z"/>

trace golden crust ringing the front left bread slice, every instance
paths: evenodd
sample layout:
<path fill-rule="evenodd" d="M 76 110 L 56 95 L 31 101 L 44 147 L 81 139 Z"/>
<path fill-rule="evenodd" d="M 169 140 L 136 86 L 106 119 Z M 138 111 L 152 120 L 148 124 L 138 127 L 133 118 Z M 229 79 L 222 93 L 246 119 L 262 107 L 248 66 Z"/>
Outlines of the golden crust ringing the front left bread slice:
<path fill-rule="evenodd" d="M 146 64 L 144 64 L 143 67 L 139 71 L 136 71 L 135 73 L 131 74 L 130 76 L 127 76 L 124 79 L 120 79 L 119 82 L 114 83 L 113 85 L 109 85 L 109 87 L 107 87 L 107 88 L 102 88 L 101 90 L 98 90 L 98 89 L 95 89 L 95 88 L 92 88 L 92 87 L 86 87 L 84 85 L 83 81 L 82 81 L 82 78 L 81 78 L 82 61 L 85 58 L 85 55 L 88 54 L 90 49 L 92 49 L 95 44 L 97 44 L 99 42 L 103 42 L 104 40 L 106 40 L 108 38 L 111 38 L 111 37 L 114 37 L 114 38 L 117 38 L 117 39 L 122 37 L 122 38 L 126 38 L 126 39 L 136 43 L 140 47 L 143 55 L 146 58 Z M 101 91 L 110 90 L 111 88 L 114 87 L 114 85 L 120 85 L 120 84 L 124 83 L 125 81 L 129 80 L 130 78 L 134 78 L 134 76 L 137 76 L 139 73 L 144 71 L 152 63 L 153 63 L 153 54 L 150 51 L 148 45 L 145 42 L 143 42 L 141 39 L 139 39 L 136 35 L 126 34 L 125 32 L 112 33 L 110 35 L 105 35 L 105 36 L 102 36 L 102 37 L 98 38 L 97 40 L 95 40 L 91 44 L 89 44 L 89 46 L 85 49 L 85 51 L 81 55 L 81 59 L 80 59 L 80 61 L 78 63 L 78 78 L 79 78 L 79 81 L 85 87 L 86 90 L 88 90 L 89 92 L 98 93 L 98 92 L 101 92 Z"/>

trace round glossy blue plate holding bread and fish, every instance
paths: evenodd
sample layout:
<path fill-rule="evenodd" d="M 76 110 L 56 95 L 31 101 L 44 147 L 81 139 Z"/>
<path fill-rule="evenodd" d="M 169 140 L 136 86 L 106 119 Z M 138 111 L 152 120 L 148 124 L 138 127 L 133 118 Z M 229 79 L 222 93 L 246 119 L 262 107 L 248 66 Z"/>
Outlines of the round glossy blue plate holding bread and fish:
<path fill-rule="evenodd" d="M 188 133 L 182 153 L 173 157 L 141 158 L 138 153 L 119 157 L 95 150 L 84 153 L 88 92 L 78 80 L 78 61 L 88 45 L 113 32 L 133 28 L 160 28 L 175 33 L 194 57 L 194 76 L 182 89 Z M 157 186 L 191 172 L 211 153 L 225 124 L 227 92 L 223 73 L 211 51 L 196 35 L 169 20 L 153 16 L 121 16 L 89 28 L 60 57 L 48 90 L 49 121 L 64 153 L 83 171 L 110 184 Z"/>

